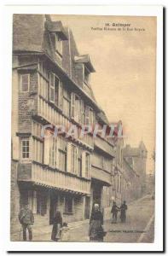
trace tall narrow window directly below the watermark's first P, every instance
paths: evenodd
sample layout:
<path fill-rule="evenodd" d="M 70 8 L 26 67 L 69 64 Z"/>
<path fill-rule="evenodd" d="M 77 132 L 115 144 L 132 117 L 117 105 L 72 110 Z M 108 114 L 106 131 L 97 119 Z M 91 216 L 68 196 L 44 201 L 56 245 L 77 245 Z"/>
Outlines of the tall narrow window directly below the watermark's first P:
<path fill-rule="evenodd" d="M 59 160 L 59 169 L 61 171 L 67 171 L 67 142 L 65 139 L 60 137 L 60 145 L 58 148 L 58 160 Z"/>

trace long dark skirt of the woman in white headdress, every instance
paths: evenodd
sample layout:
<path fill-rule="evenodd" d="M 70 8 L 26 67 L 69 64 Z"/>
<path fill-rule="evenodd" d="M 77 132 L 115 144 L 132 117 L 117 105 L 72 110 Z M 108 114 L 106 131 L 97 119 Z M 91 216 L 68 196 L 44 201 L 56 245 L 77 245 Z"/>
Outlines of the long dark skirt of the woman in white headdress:
<path fill-rule="evenodd" d="M 103 241 L 103 229 L 101 220 L 92 220 L 89 230 L 90 241 Z"/>

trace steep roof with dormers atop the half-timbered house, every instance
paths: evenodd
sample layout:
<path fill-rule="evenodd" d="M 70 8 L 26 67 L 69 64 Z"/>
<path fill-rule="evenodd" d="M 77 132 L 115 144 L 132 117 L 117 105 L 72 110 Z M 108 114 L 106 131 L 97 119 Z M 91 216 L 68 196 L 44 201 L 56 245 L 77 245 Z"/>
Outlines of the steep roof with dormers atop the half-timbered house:
<path fill-rule="evenodd" d="M 58 32 L 63 40 L 62 61 L 55 55 L 55 45 L 52 37 Z M 72 31 L 62 26 L 61 20 L 52 21 L 49 15 L 14 15 L 13 16 L 13 51 L 34 52 L 48 55 L 61 69 L 67 73 L 75 84 L 80 86 L 75 67 L 75 56 L 81 56 L 73 38 Z M 84 63 L 90 65 L 89 55 L 83 55 Z M 90 87 L 83 88 L 85 94 L 96 103 L 93 90 Z M 98 108 L 98 106 L 97 106 Z"/>

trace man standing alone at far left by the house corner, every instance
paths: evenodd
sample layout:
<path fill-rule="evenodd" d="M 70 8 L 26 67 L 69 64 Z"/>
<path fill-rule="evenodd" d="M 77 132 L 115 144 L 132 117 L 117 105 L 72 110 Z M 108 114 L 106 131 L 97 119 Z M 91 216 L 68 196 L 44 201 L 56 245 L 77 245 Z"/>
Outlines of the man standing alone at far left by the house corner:
<path fill-rule="evenodd" d="M 32 241 L 32 225 L 34 224 L 34 216 L 32 210 L 29 209 L 28 204 L 20 209 L 19 221 L 23 230 L 23 241 L 26 241 L 26 230 L 28 230 L 29 233 L 29 241 Z"/>

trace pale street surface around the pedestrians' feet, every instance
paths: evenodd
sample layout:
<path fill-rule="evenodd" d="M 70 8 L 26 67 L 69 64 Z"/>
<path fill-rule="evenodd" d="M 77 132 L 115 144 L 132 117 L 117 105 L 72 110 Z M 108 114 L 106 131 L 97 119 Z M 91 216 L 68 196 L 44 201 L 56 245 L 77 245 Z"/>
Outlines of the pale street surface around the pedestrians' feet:
<path fill-rule="evenodd" d="M 131 203 L 128 206 L 125 224 L 112 224 L 111 220 L 104 222 L 107 235 L 106 242 L 153 242 L 154 241 L 154 200 L 151 195 Z M 89 241 L 89 224 L 76 224 L 70 230 L 71 241 Z M 50 234 L 38 236 L 36 241 L 50 241 Z"/>

